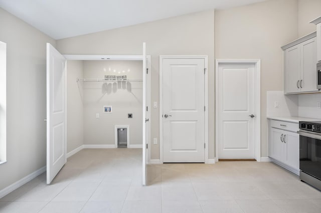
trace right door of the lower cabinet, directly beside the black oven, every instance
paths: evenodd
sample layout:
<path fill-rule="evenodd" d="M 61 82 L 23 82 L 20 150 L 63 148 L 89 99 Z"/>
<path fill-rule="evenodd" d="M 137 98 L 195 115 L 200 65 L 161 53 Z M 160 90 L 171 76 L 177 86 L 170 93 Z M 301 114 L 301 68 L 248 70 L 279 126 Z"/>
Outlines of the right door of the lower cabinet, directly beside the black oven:
<path fill-rule="evenodd" d="M 299 169 L 299 134 L 294 132 L 285 132 L 285 150 L 286 164 Z"/>

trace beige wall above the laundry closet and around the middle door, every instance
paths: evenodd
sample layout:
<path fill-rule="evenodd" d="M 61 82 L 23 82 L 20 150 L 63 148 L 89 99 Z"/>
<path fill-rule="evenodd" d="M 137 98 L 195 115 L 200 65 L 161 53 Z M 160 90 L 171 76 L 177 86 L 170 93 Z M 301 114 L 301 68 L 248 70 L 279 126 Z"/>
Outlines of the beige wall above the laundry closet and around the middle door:
<path fill-rule="evenodd" d="M 151 102 L 159 103 L 159 55 L 209 56 L 209 157 L 214 158 L 214 10 L 57 40 L 63 54 L 142 54 L 146 42 L 151 55 Z M 159 108 L 151 108 L 151 138 L 159 138 Z M 159 144 L 151 144 L 151 158 L 159 158 Z"/>

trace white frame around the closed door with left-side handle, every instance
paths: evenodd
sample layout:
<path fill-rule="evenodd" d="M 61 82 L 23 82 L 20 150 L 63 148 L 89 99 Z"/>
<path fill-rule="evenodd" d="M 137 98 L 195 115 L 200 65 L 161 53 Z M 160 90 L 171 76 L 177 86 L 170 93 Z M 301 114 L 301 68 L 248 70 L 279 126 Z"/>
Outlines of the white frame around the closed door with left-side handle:
<path fill-rule="evenodd" d="M 159 163 L 163 163 L 163 59 L 204 59 L 204 160 L 209 162 L 209 100 L 208 100 L 208 56 L 207 55 L 159 55 Z"/>

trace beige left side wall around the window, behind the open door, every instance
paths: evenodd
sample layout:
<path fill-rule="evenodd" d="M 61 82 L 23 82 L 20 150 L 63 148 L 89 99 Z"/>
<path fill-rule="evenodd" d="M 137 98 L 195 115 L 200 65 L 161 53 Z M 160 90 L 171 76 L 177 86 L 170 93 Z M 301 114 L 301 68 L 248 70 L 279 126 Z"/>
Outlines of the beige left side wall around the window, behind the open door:
<path fill-rule="evenodd" d="M 0 8 L 7 43 L 7 160 L 0 190 L 46 165 L 46 42 L 55 40 Z"/>

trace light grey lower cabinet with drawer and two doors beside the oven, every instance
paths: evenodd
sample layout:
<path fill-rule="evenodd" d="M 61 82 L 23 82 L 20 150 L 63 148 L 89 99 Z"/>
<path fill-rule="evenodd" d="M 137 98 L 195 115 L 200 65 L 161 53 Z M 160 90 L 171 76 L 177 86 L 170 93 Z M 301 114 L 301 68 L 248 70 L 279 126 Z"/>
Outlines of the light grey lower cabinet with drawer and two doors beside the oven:
<path fill-rule="evenodd" d="M 293 124 L 293 123 L 291 123 Z M 283 124 L 283 126 L 289 126 Z M 298 129 L 298 124 L 297 124 Z M 296 129 L 290 129 L 296 131 Z M 284 168 L 299 174 L 299 134 L 269 126 L 269 157 Z"/>

